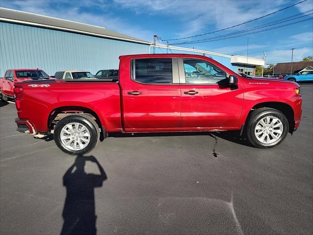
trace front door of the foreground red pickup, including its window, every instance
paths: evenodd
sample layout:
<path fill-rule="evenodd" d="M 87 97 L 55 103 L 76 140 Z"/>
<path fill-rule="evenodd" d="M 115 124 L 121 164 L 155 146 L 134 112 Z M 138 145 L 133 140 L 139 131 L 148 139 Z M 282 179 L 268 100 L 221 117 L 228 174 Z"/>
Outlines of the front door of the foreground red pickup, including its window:
<path fill-rule="evenodd" d="M 179 59 L 181 128 L 212 130 L 237 126 L 244 102 L 243 85 L 240 81 L 237 87 L 225 84 L 228 75 L 201 59 Z"/>

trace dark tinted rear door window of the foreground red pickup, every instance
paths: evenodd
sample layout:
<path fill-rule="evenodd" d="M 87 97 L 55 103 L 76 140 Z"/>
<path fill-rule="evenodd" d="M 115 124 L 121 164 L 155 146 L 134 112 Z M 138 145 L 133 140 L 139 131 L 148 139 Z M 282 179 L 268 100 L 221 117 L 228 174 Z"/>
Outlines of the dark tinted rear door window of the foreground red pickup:
<path fill-rule="evenodd" d="M 172 58 L 132 60 L 132 79 L 145 84 L 173 83 Z"/>

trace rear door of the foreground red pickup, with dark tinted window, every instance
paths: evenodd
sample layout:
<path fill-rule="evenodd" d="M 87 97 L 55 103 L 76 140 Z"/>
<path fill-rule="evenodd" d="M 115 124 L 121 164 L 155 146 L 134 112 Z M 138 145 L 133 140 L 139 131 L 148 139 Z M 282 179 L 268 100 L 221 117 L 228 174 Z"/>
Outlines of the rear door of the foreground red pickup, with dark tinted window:
<path fill-rule="evenodd" d="M 123 120 L 126 131 L 166 131 L 180 123 L 177 58 L 131 60 L 124 74 Z"/>

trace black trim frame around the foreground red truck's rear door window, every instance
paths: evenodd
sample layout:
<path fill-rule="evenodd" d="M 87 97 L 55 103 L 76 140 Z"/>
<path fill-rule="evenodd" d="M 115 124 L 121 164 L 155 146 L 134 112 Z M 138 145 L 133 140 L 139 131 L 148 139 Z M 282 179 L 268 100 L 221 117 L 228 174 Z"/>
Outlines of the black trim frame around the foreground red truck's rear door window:
<path fill-rule="evenodd" d="M 135 77 L 135 61 L 137 59 L 172 59 L 172 83 L 143 83 L 143 82 L 138 82 L 134 79 Z M 140 58 L 135 58 L 131 60 L 130 63 L 130 77 L 132 81 L 143 84 L 143 85 L 179 85 L 179 71 L 178 71 L 178 58 L 177 57 L 140 57 Z M 176 83 L 174 83 L 176 81 Z"/>

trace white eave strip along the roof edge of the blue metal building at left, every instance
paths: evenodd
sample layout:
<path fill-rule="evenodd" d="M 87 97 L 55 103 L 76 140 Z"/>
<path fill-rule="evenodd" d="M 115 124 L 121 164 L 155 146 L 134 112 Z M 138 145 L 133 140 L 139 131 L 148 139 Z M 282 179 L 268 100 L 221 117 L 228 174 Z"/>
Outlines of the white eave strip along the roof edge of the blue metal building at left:
<path fill-rule="evenodd" d="M 64 28 L 64 27 L 53 26 L 53 25 L 48 25 L 48 24 L 38 24 L 38 23 L 33 23 L 33 22 L 19 21 L 19 20 L 7 19 L 7 18 L 2 18 L 2 17 L 0 17 L 0 21 L 18 23 L 18 24 L 26 24 L 26 25 L 34 25 L 34 26 L 44 27 L 44 28 L 59 29 L 59 30 L 68 31 L 68 32 L 75 32 L 75 33 L 81 33 L 81 34 L 86 34 L 86 35 L 92 35 L 92 36 L 97 36 L 97 37 L 101 37 L 101 38 L 111 38 L 111 39 L 115 39 L 115 40 L 134 42 L 134 43 L 139 43 L 139 44 L 147 44 L 147 45 L 151 44 L 150 42 L 145 42 L 145 41 L 120 38 L 120 37 L 115 37 L 115 36 L 110 36 L 110 35 L 105 35 L 105 34 L 92 33 L 92 32 L 88 32 L 88 31 L 77 30 L 77 29 L 72 29 L 72 28 Z M 78 22 L 75 22 L 75 23 L 78 23 Z M 78 24 L 81 24 L 81 23 L 78 23 Z M 93 26 L 93 25 L 91 25 L 91 26 Z"/>

